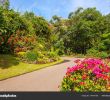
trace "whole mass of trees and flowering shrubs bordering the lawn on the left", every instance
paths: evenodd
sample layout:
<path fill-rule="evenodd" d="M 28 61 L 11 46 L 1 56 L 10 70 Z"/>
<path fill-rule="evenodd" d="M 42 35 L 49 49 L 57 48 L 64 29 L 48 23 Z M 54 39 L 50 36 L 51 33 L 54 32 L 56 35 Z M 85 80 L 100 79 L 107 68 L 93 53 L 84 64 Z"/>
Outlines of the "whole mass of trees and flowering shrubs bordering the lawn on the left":
<path fill-rule="evenodd" d="M 33 12 L 21 15 L 3 2 L 0 6 L 0 54 L 14 54 L 29 63 L 58 60 L 60 44 L 52 34 L 52 27 L 43 17 Z"/>

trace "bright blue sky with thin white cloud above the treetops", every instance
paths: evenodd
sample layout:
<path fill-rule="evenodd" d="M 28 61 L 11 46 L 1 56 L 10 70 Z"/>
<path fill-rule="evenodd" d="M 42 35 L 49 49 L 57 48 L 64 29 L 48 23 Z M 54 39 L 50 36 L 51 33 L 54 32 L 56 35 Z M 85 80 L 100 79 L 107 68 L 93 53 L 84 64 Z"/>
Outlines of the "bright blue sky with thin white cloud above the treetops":
<path fill-rule="evenodd" d="M 110 13 L 110 0 L 10 0 L 10 7 L 21 13 L 32 11 L 50 20 L 53 15 L 67 18 L 78 7 L 96 7 L 103 14 Z"/>

